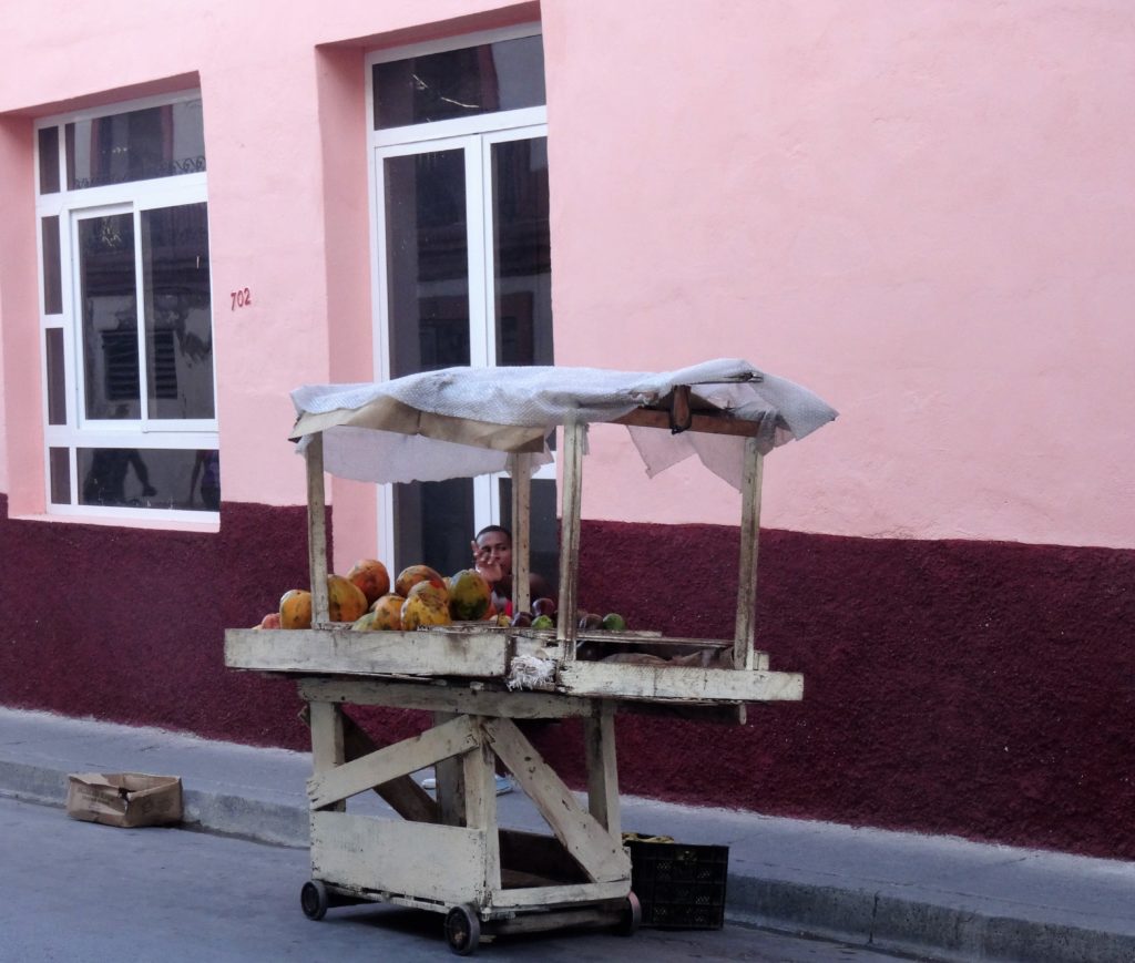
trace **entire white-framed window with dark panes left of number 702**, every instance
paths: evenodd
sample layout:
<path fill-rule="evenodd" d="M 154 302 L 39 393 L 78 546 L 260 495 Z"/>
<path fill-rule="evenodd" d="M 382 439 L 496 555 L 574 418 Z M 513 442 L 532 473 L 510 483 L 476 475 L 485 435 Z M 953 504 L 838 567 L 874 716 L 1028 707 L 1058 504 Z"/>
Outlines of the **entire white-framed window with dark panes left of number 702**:
<path fill-rule="evenodd" d="M 36 133 L 49 512 L 216 513 L 200 96 L 51 118 Z"/>

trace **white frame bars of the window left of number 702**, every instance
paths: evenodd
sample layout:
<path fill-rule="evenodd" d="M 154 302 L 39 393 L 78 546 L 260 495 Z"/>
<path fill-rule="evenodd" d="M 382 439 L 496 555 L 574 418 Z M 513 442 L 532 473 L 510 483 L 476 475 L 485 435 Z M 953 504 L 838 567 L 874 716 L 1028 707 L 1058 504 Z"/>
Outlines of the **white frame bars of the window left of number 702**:
<path fill-rule="evenodd" d="M 150 180 L 132 180 L 121 184 L 106 184 L 96 187 L 67 189 L 67 170 L 65 162 L 64 130 L 65 125 L 92 120 L 134 110 L 145 110 L 167 104 L 200 101 L 200 91 L 182 91 L 175 94 L 141 98 L 131 101 L 119 101 L 98 108 L 72 111 L 40 118 L 35 123 L 35 170 L 40 170 L 39 130 L 44 127 L 59 129 L 59 191 L 53 194 L 41 194 L 39 175 L 35 183 L 35 235 L 36 263 L 39 265 L 39 307 L 40 307 L 40 350 L 41 350 L 41 409 L 43 411 L 43 459 L 45 513 L 52 516 L 74 517 L 83 519 L 131 521 L 143 522 L 148 527 L 159 527 L 162 523 L 197 523 L 216 525 L 220 519 L 219 512 L 191 510 L 180 508 L 134 508 L 125 506 L 82 505 L 79 491 L 82 481 L 78 478 L 78 448 L 158 448 L 170 450 L 218 450 L 219 434 L 216 417 L 217 411 L 217 353 L 212 352 L 213 378 L 213 412 L 212 419 L 149 419 L 145 414 L 149 372 L 144 363 L 144 332 L 138 324 L 140 371 L 138 385 L 142 398 L 142 414 L 129 421 L 109 419 L 87 419 L 85 405 L 85 372 L 78 353 L 82 344 L 79 326 L 82 312 L 78 305 L 81 284 L 78 259 L 75 256 L 77 237 L 76 223 L 79 220 L 106 214 L 132 213 L 134 218 L 135 237 L 141 237 L 142 212 L 158 208 L 171 208 L 184 204 L 208 203 L 205 171 L 179 174 L 170 177 Z M 43 219 L 59 218 L 59 256 L 60 281 L 62 285 L 62 311 L 48 314 L 44 299 L 44 264 L 43 264 Z M 140 251 L 136 247 L 135 256 Z M 141 263 L 135 264 L 137 284 L 137 303 L 144 303 L 142 285 L 143 272 Z M 212 328 L 216 332 L 216 297 L 212 298 Z M 64 424 L 49 423 L 47 353 L 43 348 L 47 332 L 61 329 L 64 333 L 64 400 L 66 421 Z M 213 338 L 216 344 L 216 337 Z M 51 500 L 51 455 L 52 448 L 66 448 L 69 462 L 69 484 L 72 504 L 59 505 Z"/>

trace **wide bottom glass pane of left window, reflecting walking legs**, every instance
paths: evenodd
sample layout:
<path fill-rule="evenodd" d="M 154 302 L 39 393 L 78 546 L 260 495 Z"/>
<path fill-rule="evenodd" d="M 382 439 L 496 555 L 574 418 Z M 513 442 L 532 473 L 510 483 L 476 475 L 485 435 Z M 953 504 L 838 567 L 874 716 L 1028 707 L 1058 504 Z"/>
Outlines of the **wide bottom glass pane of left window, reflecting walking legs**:
<path fill-rule="evenodd" d="M 79 448 L 81 505 L 182 508 L 220 506 L 220 458 L 216 450 Z"/>

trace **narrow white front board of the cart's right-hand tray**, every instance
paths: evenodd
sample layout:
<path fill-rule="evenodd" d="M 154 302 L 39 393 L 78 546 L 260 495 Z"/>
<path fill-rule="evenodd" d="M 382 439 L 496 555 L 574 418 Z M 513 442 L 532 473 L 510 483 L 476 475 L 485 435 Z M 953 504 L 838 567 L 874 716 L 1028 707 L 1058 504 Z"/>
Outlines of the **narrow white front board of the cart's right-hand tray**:
<path fill-rule="evenodd" d="M 804 698 L 804 676 L 799 673 L 697 669 L 684 666 L 575 661 L 561 667 L 560 685 L 571 695 L 607 699 L 619 696 L 773 702 Z"/>

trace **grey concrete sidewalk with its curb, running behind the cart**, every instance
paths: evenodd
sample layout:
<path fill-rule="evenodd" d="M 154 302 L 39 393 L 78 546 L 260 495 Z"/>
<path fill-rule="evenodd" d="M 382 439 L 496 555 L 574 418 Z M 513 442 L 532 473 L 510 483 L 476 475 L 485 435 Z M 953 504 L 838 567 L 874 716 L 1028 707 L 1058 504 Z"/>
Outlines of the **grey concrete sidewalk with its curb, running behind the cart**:
<path fill-rule="evenodd" d="M 90 771 L 180 776 L 187 828 L 306 846 L 306 753 L 0 708 L 0 795 L 61 806 Z M 522 793 L 497 802 L 544 830 Z M 623 829 L 728 845 L 735 922 L 935 960 L 1135 960 L 1135 863 L 636 797 Z"/>

